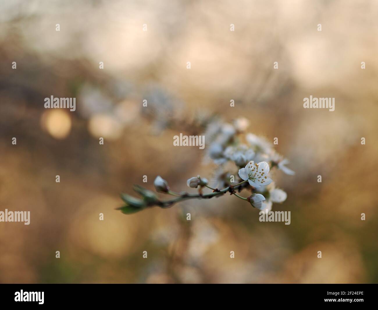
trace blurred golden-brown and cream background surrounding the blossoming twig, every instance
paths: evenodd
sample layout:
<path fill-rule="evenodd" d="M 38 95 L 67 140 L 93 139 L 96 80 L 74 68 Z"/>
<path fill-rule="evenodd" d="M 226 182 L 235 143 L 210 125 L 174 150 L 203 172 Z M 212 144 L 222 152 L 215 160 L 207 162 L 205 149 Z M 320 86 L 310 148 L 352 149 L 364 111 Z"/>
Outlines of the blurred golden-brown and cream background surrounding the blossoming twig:
<path fill-rule="evenodd" d="M 1 1 L 0 210 L 31 223 L 0 223 L 0 282 L 377 283 L 377 16 L 373 0 Z M 214 117 L 279 138 L 290 225 L 230 196 L 114 210 L 156 175 L 178 192 L 211 177 L 173 136 Z"/>

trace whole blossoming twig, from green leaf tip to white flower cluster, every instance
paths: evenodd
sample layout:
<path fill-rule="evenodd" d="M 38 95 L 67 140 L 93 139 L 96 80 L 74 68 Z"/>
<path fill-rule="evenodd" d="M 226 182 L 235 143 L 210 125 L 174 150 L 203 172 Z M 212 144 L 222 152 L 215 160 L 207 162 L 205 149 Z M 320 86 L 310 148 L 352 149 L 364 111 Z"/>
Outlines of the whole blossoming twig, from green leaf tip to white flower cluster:
<path fill-rule="evenodd" d="M 204 134 L 210 143 L 206 158 L 217 165 L 212 187 L 207 179 L 197 176 L 187 180 L 188 187 L 198 188 L 197 194 L 177 193 L 170 190 L 167 181 L 157 176 L 153 183 L 156 191 L 175 198 L 162 201 L 152 191 L 135 185 L 134 190 L 142 198 L 122 194 L 121 198 L 126 205 L 118 209 L 128 214 L 151 206 L 170 207 L 185 199 L 209 199 L 229 192 L 257 209 L 270 211 L 273 203 L 282 203 L 287 198 L 287 194 L 276 188 L 268 176 L 270 170 L 277 168 L 289 175 L 293 175 L 294 171 L 285 166 L 288 160 L 276 153 L 272 143 L 254 134 L 245 134 L 247 127 L 248 120 L 245 118 L 235 120 L 232 125 L 218 121 L 208 125 Z M 204 187 L 212 192 L 204 194 Z M 248 190 L 251 195 L 247 198 L 239 196 L 238 192 L 242 190 Z"/>

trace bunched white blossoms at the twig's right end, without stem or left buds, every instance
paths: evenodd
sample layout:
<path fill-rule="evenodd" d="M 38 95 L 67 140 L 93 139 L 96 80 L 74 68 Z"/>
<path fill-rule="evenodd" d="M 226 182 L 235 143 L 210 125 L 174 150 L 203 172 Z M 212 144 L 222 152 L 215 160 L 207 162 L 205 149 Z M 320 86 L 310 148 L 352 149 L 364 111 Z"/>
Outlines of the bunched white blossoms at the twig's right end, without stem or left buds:
<path fill-rule="evenodd" d="M 270 211 L 273 203 L 282 203 L 287 198 L 286 193 L 276 188 L 268 177 L 270 169 L 276 168 L 288 175 L 294 175 L 294 171 L 286 167 L 289 161 L 274 150 L 273 143 L 246 133 L 248 125 L 246 118 L 238 118 L 232 124 L 219 121 L 209 124 L 205 133 L 210 143 L 207 159 L 218 166 L 212 185 L 224 188 L 239 181 L 248 181 L 238 191 L 247 188 L 256 193 L 254 198 L 262 200 L 254 207 Z M 234 183 L 231 182 L 231 176 L 234 176 Z M 235 176 L 239 177 L 239 181 Z"/>

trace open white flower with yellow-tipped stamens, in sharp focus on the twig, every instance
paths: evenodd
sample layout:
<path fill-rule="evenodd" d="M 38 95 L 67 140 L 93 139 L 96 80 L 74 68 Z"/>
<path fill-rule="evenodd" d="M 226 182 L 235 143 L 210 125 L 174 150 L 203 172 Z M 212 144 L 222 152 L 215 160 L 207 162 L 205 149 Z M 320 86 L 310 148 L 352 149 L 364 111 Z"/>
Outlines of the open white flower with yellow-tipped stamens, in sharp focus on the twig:
<path fill-rule="evenodd" d="M 248 180 L 249 185 L 254 187 L 260 187 L 268 185 L 272 182 L 271 178 L 268 178 L 269 165 L 267 162 L 259 162 L 255 164 L 253 160 L 248 162 L 245 168 L 239 170 L 239 176 L 243 180 Z"/>

